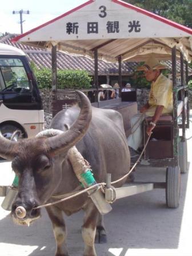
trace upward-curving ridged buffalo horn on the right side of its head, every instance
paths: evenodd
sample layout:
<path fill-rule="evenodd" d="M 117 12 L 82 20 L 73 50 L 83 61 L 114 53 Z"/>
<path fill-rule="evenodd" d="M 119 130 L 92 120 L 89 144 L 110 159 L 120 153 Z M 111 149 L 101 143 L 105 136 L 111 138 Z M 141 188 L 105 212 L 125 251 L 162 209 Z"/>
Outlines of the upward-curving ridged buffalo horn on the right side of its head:
<path fill-rule="evenodd" d="M 46 139 L 49 153 L 57 155 L 63 150 L 67 151 L 80 141 L 85 135 L 92 117 L 91 103 L 81 91 L 76 91 L 80 99 L 81 111 L 77 121 L 65 133 Z"/>

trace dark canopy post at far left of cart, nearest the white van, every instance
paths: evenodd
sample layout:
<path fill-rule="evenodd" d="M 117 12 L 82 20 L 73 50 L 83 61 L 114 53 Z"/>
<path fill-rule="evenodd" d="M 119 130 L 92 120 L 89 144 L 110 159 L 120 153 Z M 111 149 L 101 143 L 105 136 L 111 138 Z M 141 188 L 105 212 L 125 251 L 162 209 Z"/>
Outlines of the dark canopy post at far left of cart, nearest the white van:
<path fill-rule="evenodd" d="M 51 49 L 51 64 L 52 64 L 52 100 L 57 99 L 57 45 Z"/>

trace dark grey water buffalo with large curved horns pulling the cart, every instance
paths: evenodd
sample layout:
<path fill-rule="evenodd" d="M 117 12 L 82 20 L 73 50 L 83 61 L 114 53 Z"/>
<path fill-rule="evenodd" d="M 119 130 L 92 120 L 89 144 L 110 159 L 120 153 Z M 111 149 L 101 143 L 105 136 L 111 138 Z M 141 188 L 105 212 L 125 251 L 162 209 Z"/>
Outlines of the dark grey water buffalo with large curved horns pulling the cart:
<path fill-rule="evenodd" d="M 12 161 L 13 170 L 19 177 L 18 195 L 11 209 L 11 215 L 17 223 L 29 224 L 40 217 L 40 209 L 34 207 L 53 202 L 53 194 L 70 193 L 77 189 L 79 181 L 67 157 L 67 152 L 74 145 L 90 163 L 97 182 L 105 182 L 107 173 L 111 173 L 114 181 L 130 169 L 130 153 L 121 114 L 115 110 L 91 107 L 85 94 L 77 91 L 77 95 L 80 107 L 75 105 L 60 111 L 51 122 L 51 129 L 64 131 L 62 134 L 21 139 L 18 142 L 0 138 L 0 156 Z M 124 182 L 125 179 L 117 186 Z M 15 214 L 19 206 L 26 210 L 23 219 L 18 219 Z M 62 211 L 70 215 L 81 209 L 85 211 L 82 226 L 85 242 L 83 255 L 97 255 L 94 247 L 96 229 L 104 238 L 105 228 L 101 215 L 85 193 L 46 207 L 57 243 L 56 256 L 69 255 L 65 245 L 66 226 Z"/>

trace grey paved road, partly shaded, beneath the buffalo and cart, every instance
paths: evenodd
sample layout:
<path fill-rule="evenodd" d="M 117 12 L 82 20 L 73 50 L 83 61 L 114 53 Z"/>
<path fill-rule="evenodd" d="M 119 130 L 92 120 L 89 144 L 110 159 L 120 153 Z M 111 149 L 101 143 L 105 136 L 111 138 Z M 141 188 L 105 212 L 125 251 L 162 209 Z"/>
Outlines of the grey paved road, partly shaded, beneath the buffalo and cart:
<path fill-rule="evenodd" d="M 190 135 L 192 129 L 187 132 L 187 137 Z M 189 159 L 191 148 L 192 140 L 188 141 Z M 98 256 L 191 256 L 191 168 L 192 165 L 189 173 L 182 174 L 178 209 L 167 209 L 163 189 L 115 202 L 113 211 L 105 217 L 108 243 L 96 245 Z M 0 170 L 4 173 L 3 177 L 7 176 L 6 180 L 10 179 L 6 182 L 11 182 L 13 176 L 7 174 L 2 164 Z M 142 181 L 165 181 L 165 170 L 139 168 L 135 176 Z M 66 217 L 67 245 L 71 256 L 82 255 L 82 217 L 82 212 Z M 14 225 L 9 212 L 0 207 L 1 256 L 53 256 L 54 251 L 53 232 L 45 210 L 42 211 L 42 218 L 33 225 L 21 227 Z"/>

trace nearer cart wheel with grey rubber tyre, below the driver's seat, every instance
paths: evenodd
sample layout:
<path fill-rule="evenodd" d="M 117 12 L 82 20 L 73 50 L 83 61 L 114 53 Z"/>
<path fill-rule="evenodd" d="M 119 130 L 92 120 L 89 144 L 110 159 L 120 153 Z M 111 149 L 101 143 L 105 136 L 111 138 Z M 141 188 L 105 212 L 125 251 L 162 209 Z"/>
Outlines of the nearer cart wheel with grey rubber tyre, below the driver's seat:
<path fill-rule="evenodd" d="M 180 196 L 180 170 L 179 167 L 167 167 L 166 171 L 166 203 L 169 208 L 179 206 Z"/>

